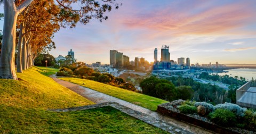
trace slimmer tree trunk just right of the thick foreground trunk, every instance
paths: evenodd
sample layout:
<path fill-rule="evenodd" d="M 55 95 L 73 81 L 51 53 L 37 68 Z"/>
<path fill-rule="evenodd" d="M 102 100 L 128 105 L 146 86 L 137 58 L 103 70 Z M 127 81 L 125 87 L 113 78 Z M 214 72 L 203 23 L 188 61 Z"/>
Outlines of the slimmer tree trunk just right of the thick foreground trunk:
<path fill-rule="evenodd" d="M 20 24 L 20 35 L 19 35 L 18 53 L 17 53 L 17 72 L 21 72 L 21 73 L 22 73 L 22 65 L 21 65 L 22 41 L 23 41 L 23 23 Z"/>

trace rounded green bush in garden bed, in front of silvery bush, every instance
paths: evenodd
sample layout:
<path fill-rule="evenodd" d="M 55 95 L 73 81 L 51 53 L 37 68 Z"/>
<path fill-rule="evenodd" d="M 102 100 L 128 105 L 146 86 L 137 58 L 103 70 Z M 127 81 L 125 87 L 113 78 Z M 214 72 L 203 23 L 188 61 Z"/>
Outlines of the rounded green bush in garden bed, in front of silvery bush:
<path fill-rule="evenodd" d="M 209 118 L 212 122 L 221 125 L 223 127 L 234 126 L 236 123 L 236 115 L 235 113 L 225 110 L 225 109 L 217 109 L 214 112 L 209 114 Z"/>

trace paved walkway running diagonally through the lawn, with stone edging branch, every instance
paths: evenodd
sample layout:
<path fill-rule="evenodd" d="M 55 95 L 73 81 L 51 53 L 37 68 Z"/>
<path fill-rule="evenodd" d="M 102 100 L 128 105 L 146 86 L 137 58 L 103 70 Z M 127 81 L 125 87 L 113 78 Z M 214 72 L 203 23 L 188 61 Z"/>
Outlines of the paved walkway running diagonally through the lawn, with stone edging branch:
<path fill-rule="evenodd" d="M 109 96 L 98 91 L 79 86 L 75 83 L 60 80 L 55 76 L 51 76 L 53 80 L 58 82 L 60 85 L 73 90 L 77 94 L 89 99 L 90 101 L 97 103 L 98 105 L 89 105 L 84 107 L 95 108 L 105 105 L 112 106 L 118 110 L 133 116 L 134 118 L 145 121 L 157 128 L 161 128 L 170 133 L 212 133 L 204 128 L 197 127 L 193 124 L 186 122 L 177 121 L 157 112 L 148 110 L 147 108 L 123 101 L 113 96 Z M 84 110 L 84 107 L 71 108 L 71 110 Z M 86 108 L 85 108 L 86 109 Z M 70 111 L 70 108 L 59 109 L 60 111 Z M 56 110 L 58 111 L 58 110 Z"/>

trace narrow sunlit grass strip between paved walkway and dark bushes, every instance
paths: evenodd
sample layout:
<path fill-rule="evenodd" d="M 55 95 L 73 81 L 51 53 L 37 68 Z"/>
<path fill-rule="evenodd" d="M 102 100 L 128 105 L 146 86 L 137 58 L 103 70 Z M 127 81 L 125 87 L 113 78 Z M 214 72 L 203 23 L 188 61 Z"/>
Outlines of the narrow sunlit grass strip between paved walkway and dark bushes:
<path fill-rule="evenodd" d="M 97 81 L 78 79 L 78 78 L 60 78 L 60 79 L 70 81 L 93 90 L 97 90 L 101 93 L 114 96 L 119 99 L 123 99 L 124 101 L 148 108 L 149 110 L 153 110 L 153 111 L 156 111 L 157 105 L 162 103 L 167 103 L 167 101 L 164 101 L 163 99 L 135 93 L 134 91 L 106 85 L 104 83 L 100 83 Z"/>

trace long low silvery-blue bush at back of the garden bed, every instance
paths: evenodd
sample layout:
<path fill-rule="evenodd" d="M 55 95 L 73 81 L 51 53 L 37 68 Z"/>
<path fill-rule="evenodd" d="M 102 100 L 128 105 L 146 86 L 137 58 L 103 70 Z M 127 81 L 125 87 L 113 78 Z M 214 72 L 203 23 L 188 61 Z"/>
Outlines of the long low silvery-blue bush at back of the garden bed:
<path fill-rule="evenodd" d="M 236 104 L 232 103 L 224 103 L 224 104 L 218 104 L 215 106 L 215 109 L 224 109 L 229 110 L 236 114 L 236 116 L 243 117 L 245 115 L 246 108 L 242 108 Z"/>

